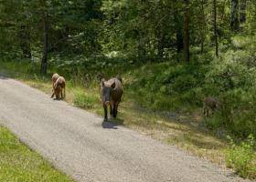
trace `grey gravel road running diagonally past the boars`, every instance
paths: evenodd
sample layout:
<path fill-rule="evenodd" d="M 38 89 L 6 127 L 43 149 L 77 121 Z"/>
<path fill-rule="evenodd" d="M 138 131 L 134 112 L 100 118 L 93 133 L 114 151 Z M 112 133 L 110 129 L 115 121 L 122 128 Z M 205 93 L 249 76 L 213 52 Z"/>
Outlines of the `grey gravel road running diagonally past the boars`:
<path fill-rule="evenodd" d="M 0 111 L 1 124 L 76 181 L 250 181 L 3 75 Z"/>

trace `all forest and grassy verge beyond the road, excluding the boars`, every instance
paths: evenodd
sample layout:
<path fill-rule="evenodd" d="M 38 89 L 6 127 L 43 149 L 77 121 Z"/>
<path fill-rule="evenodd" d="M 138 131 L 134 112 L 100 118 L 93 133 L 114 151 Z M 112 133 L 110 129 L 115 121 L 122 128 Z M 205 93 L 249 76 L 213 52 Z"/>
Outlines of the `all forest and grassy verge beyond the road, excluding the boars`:
<path fill-rule="evenodd" d="M 0 10 L 0 72 L 49 96 L 58 73 L 65 101 L 100 116 L 97 73 L 119 75 L 112 122 L 256 178 L 255 0 L 3 1 Z M 208 96 L 221 105 L 207 117 Z"/>

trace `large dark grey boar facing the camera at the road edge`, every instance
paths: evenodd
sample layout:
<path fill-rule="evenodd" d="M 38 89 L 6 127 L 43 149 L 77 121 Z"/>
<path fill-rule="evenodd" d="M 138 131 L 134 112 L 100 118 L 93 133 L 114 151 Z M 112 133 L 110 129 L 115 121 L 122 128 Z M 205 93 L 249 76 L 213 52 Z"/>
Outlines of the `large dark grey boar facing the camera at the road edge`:
<path fill-rule="evenodd" d="M 101 100 L 104 108 L 104 121 L 108 121 L 108 108 L 110 106 L 110 114 L 115 118 L 117 116 L 117 108 L 121 102 L 123 95 L 122 83 L 117 78 L 112 78 L 106 82 L 101 80 Z"/>

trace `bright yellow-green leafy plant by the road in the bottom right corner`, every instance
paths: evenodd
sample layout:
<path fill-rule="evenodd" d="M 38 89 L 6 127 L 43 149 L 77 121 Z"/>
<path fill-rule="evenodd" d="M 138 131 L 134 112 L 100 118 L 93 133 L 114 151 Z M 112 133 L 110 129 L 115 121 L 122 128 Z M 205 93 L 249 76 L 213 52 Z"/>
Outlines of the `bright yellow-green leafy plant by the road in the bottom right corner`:
<path fill-rule="evenodd" d="M 252 163 L 252 159 L 256 157 L 253 150 L 254 137 L 248 136 L 247 142 L 241 142 L 240 146 L 237 146 L 230 136 L 227 137 L 231 145 L 224 151 L 227 166 L 234 167 L 241 177 L 256 177 L 256 166 Z"/>

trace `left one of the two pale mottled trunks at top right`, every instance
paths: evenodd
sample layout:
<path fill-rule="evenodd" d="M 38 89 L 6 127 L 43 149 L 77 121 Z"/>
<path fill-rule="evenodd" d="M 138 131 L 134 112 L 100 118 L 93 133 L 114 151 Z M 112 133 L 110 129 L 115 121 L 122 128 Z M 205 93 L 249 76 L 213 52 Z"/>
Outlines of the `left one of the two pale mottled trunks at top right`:
<path fill-rule="evenodd" d="M 232 31 L 239 29 L 239 0 L 231 0 L 230 29 Z"/>

